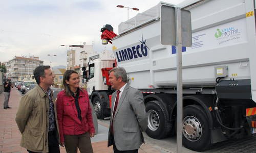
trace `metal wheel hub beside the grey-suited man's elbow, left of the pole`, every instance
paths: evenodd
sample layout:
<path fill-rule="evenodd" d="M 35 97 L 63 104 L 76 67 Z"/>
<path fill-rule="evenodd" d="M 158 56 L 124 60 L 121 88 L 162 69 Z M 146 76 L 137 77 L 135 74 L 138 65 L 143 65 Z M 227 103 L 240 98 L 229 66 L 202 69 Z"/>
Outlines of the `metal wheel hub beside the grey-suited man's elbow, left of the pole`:
<path fill-rule="evenodd" d="M 154 110 L 149 110 L 147 112 L 147 116 L 148 116 L 148 118 L 147 118 L 148 128 L 150 128 L 150 130 L 152 130 L 152 131 L 156 131 L 159 127 L 159 122 L 160 122 L 157 112 Z"/>

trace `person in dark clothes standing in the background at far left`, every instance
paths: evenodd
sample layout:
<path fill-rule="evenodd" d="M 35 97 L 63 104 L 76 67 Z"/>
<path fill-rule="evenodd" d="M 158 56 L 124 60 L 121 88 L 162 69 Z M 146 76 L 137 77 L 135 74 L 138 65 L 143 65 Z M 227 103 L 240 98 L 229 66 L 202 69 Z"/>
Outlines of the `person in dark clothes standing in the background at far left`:
<path fill-rule="evenodd" d="M 13 88 L 13 84 L 11 82 L 11 78 L 8 78 L 4 83 L 4 96 L 5 96 L 4 109 L 10 109 L 11 108 L 11 107 L 9 107 L 11 87 Z"/>

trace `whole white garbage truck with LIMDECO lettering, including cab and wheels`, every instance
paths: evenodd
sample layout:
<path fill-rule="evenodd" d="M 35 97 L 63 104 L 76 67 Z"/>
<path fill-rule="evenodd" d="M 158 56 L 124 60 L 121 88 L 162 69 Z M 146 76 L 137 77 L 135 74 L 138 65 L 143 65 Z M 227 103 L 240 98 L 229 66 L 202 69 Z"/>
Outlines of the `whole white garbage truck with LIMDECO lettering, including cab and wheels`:
<path fill-rule="evenodd" d="M 125 68 L 130 86 L 143 93 L 146 134 L 155 139 L 174 135 L 177 124 L 176 47 L 161 44 L 163 5 L 173 6 L 160 2 L 121 22 L 118 34 L 109 24 L 101 29 L 102 44 L 112 43 L 117 66 Z M 255 135 L 255 0 L 185 1 L 178 6 L 190 12 L 192 31 L 192 46 L 182 47 L 183 145 L 203 151 L 217 142 Z M 93 69 L 104 90 L 88 89 L 99 117 L 108 115 L 111 106 L 109 69 Z"/>

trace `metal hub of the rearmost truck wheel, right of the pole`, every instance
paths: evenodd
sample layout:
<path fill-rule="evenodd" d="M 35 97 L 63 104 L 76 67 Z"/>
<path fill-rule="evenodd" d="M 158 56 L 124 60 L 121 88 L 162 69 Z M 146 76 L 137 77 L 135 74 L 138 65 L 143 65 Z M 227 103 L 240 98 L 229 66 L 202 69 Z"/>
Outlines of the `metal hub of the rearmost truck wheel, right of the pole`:
<path fill-rule="evenodd" d="M 187 116 L 183 120 L 182 133 L 189 141 L 197 141 L 202 136 L 202 125 L 194 116 Z"/>

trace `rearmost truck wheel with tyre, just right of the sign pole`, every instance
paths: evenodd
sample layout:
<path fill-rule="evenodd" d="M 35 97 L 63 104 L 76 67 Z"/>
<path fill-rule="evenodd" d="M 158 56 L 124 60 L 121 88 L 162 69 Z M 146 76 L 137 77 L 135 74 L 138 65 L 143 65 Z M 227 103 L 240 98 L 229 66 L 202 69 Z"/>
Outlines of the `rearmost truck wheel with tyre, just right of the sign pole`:
<path fill-rule="evenodd" d="M 183 109 L 183 145 L 191 150 L 203 151 L 210 146 L 210 130 L 203 108 L 189 105 Z"/>

